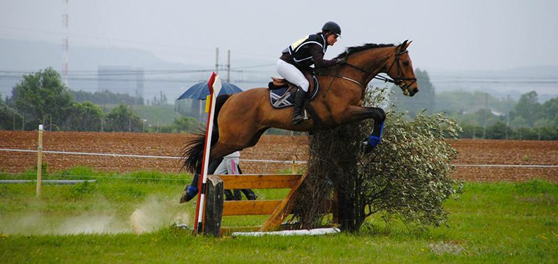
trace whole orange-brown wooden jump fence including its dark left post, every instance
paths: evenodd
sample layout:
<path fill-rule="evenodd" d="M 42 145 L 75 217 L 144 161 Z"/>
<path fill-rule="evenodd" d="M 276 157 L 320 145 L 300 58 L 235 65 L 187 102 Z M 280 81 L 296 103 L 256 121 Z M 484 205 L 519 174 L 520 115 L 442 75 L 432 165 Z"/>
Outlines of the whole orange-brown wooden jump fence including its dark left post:
<path fill-rule="evenodd" d="M 306 175 L 301 174 L 209 176 L 204 214 L 204 233 L 220 236 L 223 233 L 234 231 L 276 231 L 292 212 L 293 201 L 296 200 L 294 197 L 296 197 L 305 178 Z M 225 189 L 290 189 L 290 191 L 282 200 L 223 201 Z M 329 207 L 329 211 L 331 211 L 332 206 Z M 232 215 L 270 215 L 270 217 L 262 226 L 222 227 L 222 217 Z"/>

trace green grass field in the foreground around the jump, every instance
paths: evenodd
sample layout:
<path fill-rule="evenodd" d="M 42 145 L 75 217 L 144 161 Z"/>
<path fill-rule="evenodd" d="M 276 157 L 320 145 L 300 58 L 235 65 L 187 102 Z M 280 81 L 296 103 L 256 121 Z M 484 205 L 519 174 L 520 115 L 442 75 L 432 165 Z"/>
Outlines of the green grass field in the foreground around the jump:
<path fill-rule="evenodd" d="M 0 185 L 2 263 L 557 263 L 558 184 L 466 183 L 449 200 L 449 226 L 418 230 L 372 217 L 356 234 L 194 238 L 172 226 L 192 222 L 178 203 L 188 176 L 126 175 L 75 168 L 45 178 L 96 183 Z M 33 178 L 1 174 L 0 178 Z M 162 180 L 164 179 L 164 180 Z M 284 190 L 259 192 L 279 198 Z M 261 217 L 224 225 L 261 224 Z"/>

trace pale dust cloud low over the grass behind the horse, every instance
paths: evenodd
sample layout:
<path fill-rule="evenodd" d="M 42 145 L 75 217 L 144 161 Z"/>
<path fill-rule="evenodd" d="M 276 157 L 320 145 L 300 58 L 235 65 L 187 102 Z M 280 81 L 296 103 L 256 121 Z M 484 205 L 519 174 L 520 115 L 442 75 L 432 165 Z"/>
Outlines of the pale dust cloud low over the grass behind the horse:
<path fill-rule="evenodd" d="M 172 224 L 187 224 L 190 216 L 175 199 L 148 197 L 131 212 L 119 212 L 108 201 L 79 215 L 34 210 L 0 212 L 0 233 L 21 235 L 74 235 L 91 233 L 149 233 Z"/>

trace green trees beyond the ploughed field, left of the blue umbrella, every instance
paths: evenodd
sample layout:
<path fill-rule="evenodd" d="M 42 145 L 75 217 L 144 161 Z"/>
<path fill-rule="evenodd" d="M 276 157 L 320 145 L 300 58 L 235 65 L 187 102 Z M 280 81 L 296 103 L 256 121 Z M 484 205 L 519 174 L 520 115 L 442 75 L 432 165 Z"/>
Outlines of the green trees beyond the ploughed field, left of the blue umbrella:
<path fill-rule="evenodd" d="M 94 102 L 93 102 L 94 101 Z M 143 104 L 142 98 L 111 93 L 72 92 L 56 70 L 46 68 L 24 75 L 13 87 L 12 96 L 0 97 L 1 130 L 45 130 L 88 132 L 190 132 L 199 127 L 194 118 L 176 118 L 174 124 L 146 127 L 131 104 Z M 103 111 L 96 103 L 117 103 Z"/>

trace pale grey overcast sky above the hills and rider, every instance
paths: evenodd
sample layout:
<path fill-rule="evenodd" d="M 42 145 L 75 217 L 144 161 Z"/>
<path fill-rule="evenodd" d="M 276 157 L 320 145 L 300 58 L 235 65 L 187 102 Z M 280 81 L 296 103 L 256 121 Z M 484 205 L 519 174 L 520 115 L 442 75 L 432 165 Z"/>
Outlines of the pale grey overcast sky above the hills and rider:
<path fill-rule="evenodd" d="M 61 43 L 64 6 L 63 0 L 0 0 L 0 38 Z M 69 0 L 68 6 L 70 49 L 134 47 L 210 68 L 216 47 L 221 59 L 230 49 L 233 62 L 273 64 L 287 45 L 329 20 L 340 24 L 342 38 L 326 58 L 366 42 L 410 39 L 414 66 L 425 70 L 558 64 L 558 1 L 552 0 Z"/>

